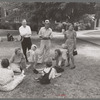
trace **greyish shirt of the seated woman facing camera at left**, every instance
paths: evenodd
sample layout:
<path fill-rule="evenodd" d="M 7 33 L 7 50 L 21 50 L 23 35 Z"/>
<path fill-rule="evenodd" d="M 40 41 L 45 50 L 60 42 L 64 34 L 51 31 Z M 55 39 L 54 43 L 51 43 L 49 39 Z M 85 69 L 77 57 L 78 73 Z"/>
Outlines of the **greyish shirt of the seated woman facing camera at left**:
<path fill-rule="evenodd" d="M 21 53 L 19 56 L 14 54 L 11 59 L 10 59 L 10 63 L 16 63 L 16 64 L 19 64 L 21 63 L 21 61 L 25 59 L 25 56 L 23 53 Z"/>

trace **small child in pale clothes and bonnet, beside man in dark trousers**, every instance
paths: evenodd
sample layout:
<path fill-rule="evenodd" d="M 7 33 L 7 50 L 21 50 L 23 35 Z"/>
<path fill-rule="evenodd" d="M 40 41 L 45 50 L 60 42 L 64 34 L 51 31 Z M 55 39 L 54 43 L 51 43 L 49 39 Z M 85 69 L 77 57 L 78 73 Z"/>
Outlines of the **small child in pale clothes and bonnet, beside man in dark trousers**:
<path fill-rule="evenodd" d="M 31 46 L 31 49 L 27 51 L 27 59 L 29 61 L 29 64 L 31 64 L 30 66 L 35 68 L 38 60 L 37 46 L 35 44 L 33 44 Z"/>

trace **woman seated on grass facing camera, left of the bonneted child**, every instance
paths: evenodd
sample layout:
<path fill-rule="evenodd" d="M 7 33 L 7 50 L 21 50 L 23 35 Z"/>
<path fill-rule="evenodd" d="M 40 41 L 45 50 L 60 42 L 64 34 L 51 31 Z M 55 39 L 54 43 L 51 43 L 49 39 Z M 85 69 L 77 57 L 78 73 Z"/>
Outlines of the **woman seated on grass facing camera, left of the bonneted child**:
<path fill-rule="evenodd" d="M 16 48 L 15 53 L 9 60 L 10 67 L 14 72 L 21 73 L 21 71 L 28 67 L 24 54 L 21 52 L 21 48 Z"/>

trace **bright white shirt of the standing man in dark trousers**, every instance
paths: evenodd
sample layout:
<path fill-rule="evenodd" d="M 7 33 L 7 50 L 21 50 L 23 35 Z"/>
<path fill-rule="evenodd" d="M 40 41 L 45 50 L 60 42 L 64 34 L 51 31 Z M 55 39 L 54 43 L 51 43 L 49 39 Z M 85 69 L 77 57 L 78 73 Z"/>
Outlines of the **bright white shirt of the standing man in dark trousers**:
<path fill-rule="evenodd" d="M 32 32 L 31 32 L 31 28 L 30 28 L 30 26 L 28 26 L 28 25 L 26 25 L 26 27 L 23 27 L 23 26 L 21 26 L 20 28 L 19 28 L 19 32 L 20 32 L 20 35 L 21 36 L 24 36 L 24 37 L 30 37 L 31 36 L 31 34 L 32 34 Z"/>

